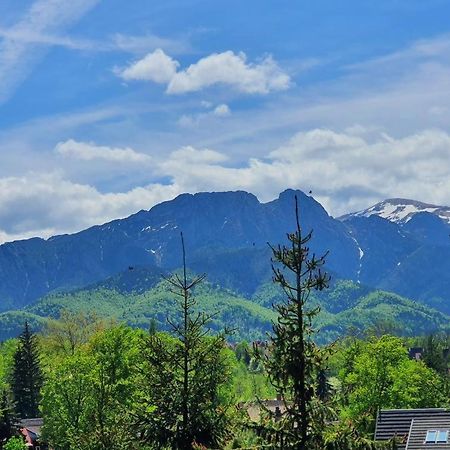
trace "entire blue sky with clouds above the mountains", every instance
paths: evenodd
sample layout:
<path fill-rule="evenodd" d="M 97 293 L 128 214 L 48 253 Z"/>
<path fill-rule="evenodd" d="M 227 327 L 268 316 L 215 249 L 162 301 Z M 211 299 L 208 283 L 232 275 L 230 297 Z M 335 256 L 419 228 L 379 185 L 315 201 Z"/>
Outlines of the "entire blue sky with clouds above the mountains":
<path fill-rule="evenodd" d="M 0 0 L 0 243 L 180 193 L 450 205 L 448 0 Z"/>

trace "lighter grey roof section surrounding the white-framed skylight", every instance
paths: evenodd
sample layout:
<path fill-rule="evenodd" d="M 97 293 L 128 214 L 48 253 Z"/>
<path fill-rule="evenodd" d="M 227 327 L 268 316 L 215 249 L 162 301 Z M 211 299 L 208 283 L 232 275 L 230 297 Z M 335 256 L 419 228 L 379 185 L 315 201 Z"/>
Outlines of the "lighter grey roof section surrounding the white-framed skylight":
<path fill-rule="evenodd" d="M 411 422 L 406 450 L 427 450 L 433 448 L 435 450 L 450 449 L 450 442 L 442 443 L 425 443 L 427 432 L 450 431 L 450 415 L 447 417 L 437 415 L 436 417 L 415 418 Z"/>

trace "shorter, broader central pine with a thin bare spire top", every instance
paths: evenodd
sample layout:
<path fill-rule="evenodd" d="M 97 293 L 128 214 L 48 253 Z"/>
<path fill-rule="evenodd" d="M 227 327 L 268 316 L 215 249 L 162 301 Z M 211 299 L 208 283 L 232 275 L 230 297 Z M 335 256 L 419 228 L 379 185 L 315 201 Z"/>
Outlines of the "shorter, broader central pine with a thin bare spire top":
<path fill-rule="evenodd" d="M 221 445 L 227 430 L 227 407 L 221 390 L 229 380 L 225 334 L 209 335 L 213 315 L 196 312 L 194 288 L 205 275 L 188 277 L 183 234 L 182 274 L 166 278 L 179 298 L 179 321 L 167 319 L 174 335 L 150 334 L 144 354 L 148 397 L 140 410 L 141 436 L 157 448 L 188 450 Z M 152 410 L 156 408 L 156 410 Z"/>

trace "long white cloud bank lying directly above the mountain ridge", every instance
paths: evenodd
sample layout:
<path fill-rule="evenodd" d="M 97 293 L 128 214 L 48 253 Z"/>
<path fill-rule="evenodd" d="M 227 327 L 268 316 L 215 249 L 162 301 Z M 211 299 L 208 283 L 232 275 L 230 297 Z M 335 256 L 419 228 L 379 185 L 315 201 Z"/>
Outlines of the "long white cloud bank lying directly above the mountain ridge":
<path fill-rule="evenodd" d="M 240 167 L 222 152 L 182 147 L 152 162 L 169 181 L 125 192 L 101 193 L 61 174 L 7 177 L 0 179 L 0 239 L 78 231 L 183 192 L 243 189 L 269 201 L 286 188 L 311 189 L 335 216 L 388 197 L 450 205 L 449 156 L 450 134 L 442 130 L 394 138 L 355 126 L 299 132 L 266 158 Z"/>

